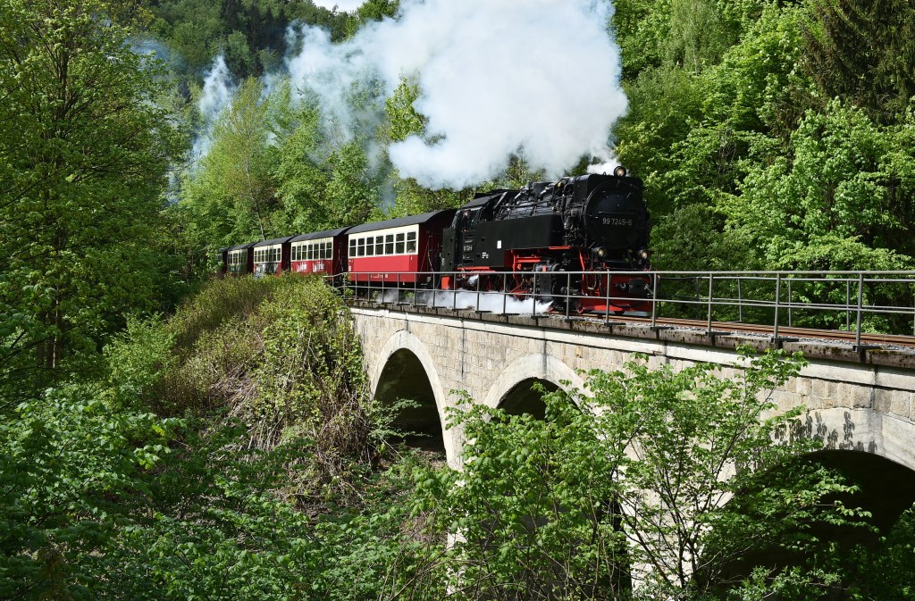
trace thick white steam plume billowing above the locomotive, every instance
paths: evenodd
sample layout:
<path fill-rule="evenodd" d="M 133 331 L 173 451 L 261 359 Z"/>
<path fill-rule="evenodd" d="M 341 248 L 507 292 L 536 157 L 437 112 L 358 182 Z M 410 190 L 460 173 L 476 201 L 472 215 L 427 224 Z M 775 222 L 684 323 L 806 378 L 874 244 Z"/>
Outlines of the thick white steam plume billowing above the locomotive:
<path fill-rule="evenodd" d="M 287 65 L 293 86 L 344 126 L 354 123 L 345 99 L 367 74 L 385 95 L 414 78 L 430 139 L 411 136 L 390 156 L 424 186 L 479 184 L 519 152 L 556 177 L 581 156 L 612 160 L 609 130 L 627 109 L 612 10 L 608 0 L 403 0 L 398 19 L 341 45 L 303 28 Z"/>

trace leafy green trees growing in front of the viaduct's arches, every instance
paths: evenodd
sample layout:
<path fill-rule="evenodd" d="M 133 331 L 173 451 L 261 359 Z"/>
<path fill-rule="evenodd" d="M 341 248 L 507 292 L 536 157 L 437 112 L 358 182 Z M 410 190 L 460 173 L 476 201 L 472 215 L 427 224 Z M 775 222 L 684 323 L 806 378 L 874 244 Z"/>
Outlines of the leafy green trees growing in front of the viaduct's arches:
<path fill-rule="evenodd" d="M 462 470 L 418 478 L 421 508 L 455 541 L 452 587 L 619 598 L 632 574 L 640 596 L 704 598 L 737 585 L 741 561 L 743 576 L 765 566 L 770 586 L 786 550 L 815 548 L 813 525 L 862 517 L 831 500 L 853 488 L 805 457 L 816 443 L 791 435 L 802 409 L 771 416 L 768 392 L 801 365 L 783 353 L 724 372 L 633 360 L 592 371 L 587 395 L 544 396 L 544 422 L 453 415 L 469 441 Z"/>

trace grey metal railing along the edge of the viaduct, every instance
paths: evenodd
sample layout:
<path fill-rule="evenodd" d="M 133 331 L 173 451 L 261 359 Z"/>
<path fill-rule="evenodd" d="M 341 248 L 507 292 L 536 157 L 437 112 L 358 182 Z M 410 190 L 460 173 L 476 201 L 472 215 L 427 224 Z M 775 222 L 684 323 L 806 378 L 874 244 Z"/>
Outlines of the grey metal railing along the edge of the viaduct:
<path fill-rule="evenodd" d="M 442 290 L 444 278 L 458 287 Z M 575 292 L 583 280 L 608 291 L 618 278 L 649 285 L 638 298 Z M 521 286 L 540 292 L 512 292 Z M 599 301 L 606 319 L 610 306 L 639 301 L 637 313 L 650 317 L 651 327 L 679 317 L 701 321 L 709 332 L 722 324 L 771 327 L 773 338 L 785 328 L 840 330 L 854 332 L 856 346 L 865 331 L 915 335 L 915 272 L 351 272 L 342 288 L 378 303 L 502 314 L 574 317 L 583 302 Z"/>

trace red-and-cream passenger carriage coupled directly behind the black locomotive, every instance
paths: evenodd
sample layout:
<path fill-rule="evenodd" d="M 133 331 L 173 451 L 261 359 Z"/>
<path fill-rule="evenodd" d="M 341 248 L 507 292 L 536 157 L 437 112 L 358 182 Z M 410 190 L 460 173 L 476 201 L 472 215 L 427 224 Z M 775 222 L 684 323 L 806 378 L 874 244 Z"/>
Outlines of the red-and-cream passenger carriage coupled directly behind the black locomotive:
<path fill-rule="evenodd" d="M 437 210 L 350 228 L 350 281 L 432 284 L 429 272 L 441 265 L 442 229 L 454 214 L 454 209 Z"/>

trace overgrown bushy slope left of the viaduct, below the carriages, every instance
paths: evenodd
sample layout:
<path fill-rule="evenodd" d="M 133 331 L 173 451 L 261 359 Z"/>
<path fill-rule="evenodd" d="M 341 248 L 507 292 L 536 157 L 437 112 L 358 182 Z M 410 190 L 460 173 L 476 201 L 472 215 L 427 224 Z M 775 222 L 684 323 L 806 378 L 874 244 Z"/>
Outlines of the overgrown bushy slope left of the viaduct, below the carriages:
<path fill-rule="evenodd" d="M 353 445 L 353 338 L 319 280 L 214 283 L 132 321 L 107 381 L 0 417 L 0 596 L 440 598 L 440 545 L 408 515 L 415 459 L 372 474 Z M 185 417 L 145 409 L 167 403 Z"/>

